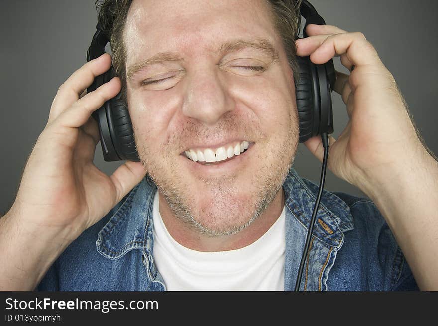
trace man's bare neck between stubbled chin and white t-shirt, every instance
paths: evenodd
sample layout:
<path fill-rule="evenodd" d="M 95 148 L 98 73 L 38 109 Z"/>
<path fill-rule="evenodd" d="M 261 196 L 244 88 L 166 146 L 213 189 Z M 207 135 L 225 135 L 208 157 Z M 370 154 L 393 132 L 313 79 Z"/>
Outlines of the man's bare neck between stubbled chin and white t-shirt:
<path fill-rule="evenodd" d="M 209 237 L 176 218 L 164 196 L 159 193 L 159 211 L 169 234 L 182 246 L 197 251 L 227 251 L 246 247 L 258 240 L 280 217 L 284 207 L 283 188 L 269 207 L 248 227 L 236 234 Z"/>

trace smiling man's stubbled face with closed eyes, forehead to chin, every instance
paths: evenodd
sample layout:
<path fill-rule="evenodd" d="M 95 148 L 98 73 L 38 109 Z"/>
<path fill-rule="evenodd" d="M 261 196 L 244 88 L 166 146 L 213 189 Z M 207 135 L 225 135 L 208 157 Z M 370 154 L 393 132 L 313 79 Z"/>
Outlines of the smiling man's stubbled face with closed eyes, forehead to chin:
<path fill-rule="evenodd" d="M 243 229 L 280 194 L 298 146 L 293 73 L 267 3 L 135 0 L 124 40 L 129 113 L 160 211 L 207 235 Z"/>

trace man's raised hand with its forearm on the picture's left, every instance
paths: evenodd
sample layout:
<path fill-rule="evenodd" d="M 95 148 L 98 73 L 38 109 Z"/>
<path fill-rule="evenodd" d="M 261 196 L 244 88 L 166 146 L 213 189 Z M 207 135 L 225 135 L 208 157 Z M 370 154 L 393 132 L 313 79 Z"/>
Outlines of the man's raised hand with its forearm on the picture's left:
<path fill-rule="evenodd" d="M 0 289 L 32 290 L 62 251 L 104 217 L 141 179 L 139 162 L 110 177 L 94 164 L 99 131 L 91 113 L 115 97 L 118 78 L 80 94 L 111 66 L 104 54 L 61 85 L 29 156 L 12 208 L 0 219 Z"/>

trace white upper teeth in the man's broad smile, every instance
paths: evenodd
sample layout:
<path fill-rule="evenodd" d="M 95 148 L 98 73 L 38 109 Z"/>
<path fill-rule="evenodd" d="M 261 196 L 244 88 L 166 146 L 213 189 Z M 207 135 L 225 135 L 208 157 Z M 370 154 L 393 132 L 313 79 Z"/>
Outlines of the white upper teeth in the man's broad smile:
<path fill-rule="evenodd" d="M 207 148 L 204 150 L 190 148 L 186 150 L 184 153 L 188 158 L 192 161 L 200 161 L 200 162 L 219 162 L 226 160 L 227 158 L 233 157 L 234 155 L 240 155 L 245 149 L 249 146 L 249 142 L 233 142 L 227 144 L 225 146 L 212 149 Z"/>

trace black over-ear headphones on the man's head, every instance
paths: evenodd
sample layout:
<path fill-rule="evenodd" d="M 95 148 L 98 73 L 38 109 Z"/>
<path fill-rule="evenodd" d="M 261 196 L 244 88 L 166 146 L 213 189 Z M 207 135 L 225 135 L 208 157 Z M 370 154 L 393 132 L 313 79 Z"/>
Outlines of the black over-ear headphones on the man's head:
<path fill-rule="evenodd" d="M 300 6 L 301 16 L 306 20 L 303 37 L 308 24 L 324 25 L 326 22 L 307 0 Z M 300 19 L 301 20 L 301 19 Z M 96 33 L 87 51 L 87 61 L 105 53 L 109 37 L 101 27 L 96 26 Z M 297 36 L 298 38 L 298 36 Z M 300 127 L 299 142 L 322 133 L 333 133 L 333 114 L 331 108 L 331 90 L 336 81 L 333 60 L 322 65 L 314 64 L 309 57 L 297 56 L 299 79 L 296 83 L 298 123 Z M 112 68 L 93 81 L 87 93 L 109 82 L 114 76 Z M 104 160 L 140 161 L 135 147 L 134 132 L 127 105 L 121 100 L 120 93 L 92 113 L 98 122 Z"/>

